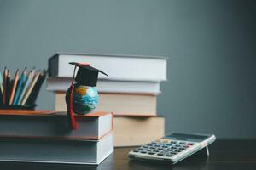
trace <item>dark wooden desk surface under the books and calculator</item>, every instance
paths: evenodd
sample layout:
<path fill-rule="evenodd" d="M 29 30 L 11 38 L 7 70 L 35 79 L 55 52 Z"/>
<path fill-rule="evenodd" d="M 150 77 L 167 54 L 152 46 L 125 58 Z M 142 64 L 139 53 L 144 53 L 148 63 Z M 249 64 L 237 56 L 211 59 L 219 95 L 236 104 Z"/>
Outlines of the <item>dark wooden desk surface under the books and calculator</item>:
<path fill-rule="evenodd" d="M 256 169 L 256 140 L 217 140 L 209 147 L 209 157 L 206 156 L 206 150 L 201 150 L 174 166 L 129 161 L 127 153 L 132 149 L 116 148 L 114 153 L 103 161 L 100 166 L 1 162 L 0 169 Z"/>

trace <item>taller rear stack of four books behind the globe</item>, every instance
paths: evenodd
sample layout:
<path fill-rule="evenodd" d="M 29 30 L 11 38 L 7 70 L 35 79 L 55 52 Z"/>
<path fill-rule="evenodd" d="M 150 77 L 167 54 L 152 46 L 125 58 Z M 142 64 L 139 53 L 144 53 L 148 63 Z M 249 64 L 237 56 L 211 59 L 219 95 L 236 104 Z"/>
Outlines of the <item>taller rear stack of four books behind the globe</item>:
<path fill-rule="evenodd" d="M 160 82 L 166 81 L 166 58 L 55 54 L 49 59 L 47 78 L 47 89 L 55 93 L 55 111 L 67 111 L 65 95 L 73 77 L 69 62 L 89 63 L 108 73 L 99 75 L 95 111 L 113 112 L 114 146 L 145 144 L 164 135 L 165 118 L 158 116 L 156 106 Z"/>

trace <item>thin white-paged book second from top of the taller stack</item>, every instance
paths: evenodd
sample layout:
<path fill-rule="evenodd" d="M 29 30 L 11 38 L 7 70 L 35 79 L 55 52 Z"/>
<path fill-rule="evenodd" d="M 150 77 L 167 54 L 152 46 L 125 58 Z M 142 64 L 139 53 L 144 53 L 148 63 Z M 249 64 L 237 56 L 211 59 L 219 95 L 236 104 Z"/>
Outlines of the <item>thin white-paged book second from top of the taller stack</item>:
<path fill-rule="evenodd" d="M 66 92 L 70 87 L 72 78 L 48 77 L 46 89 L 49 91 Z M 160 94 L 160 82 L 141 81 L 114 81 L 98 80 L 96 86 L 100 93 L 125 93 L 125 94 Z"/>

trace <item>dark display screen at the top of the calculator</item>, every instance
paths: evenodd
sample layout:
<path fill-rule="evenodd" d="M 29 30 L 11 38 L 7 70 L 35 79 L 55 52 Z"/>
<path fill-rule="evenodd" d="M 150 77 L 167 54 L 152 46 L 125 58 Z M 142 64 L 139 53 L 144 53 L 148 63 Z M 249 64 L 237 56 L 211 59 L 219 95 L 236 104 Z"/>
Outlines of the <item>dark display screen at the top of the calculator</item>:
<path fill-rule="evenodd" d="M 209 136 L 207 135 L 200 135 L 200 134 L 187 134 L 187 133 L 171 133 L 169 135 L 166 135 L 167 139 L 180 139 L 180 140 L 194 140 L 194 141 L 203 141 Z"/>

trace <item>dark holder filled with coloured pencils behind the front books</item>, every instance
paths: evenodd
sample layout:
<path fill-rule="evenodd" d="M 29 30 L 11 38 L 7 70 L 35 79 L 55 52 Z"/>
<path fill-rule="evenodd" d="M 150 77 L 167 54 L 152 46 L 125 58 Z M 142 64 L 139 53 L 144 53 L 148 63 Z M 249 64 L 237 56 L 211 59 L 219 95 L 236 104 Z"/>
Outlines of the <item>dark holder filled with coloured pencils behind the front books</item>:
<path fill-rule="evenodd" d="M 0 74 L 1 75 L 1 74 Z M 0 77 L 0 109 L 5 110 L 35 110 L 36 100 L 47 71 L 36 71 L 27 68 L 15 76 L 10 76 L 10 71 L 5 67 L 3 80 Z"/>

